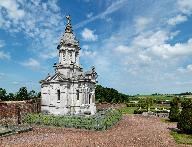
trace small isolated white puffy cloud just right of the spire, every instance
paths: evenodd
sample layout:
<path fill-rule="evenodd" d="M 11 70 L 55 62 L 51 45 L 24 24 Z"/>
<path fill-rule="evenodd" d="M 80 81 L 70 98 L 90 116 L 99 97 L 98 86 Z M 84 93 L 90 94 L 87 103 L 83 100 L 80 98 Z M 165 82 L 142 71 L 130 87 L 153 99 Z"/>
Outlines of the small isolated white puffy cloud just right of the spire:
<path fill-rule="evenodd" d="M 81 33 L 81 36 L 85 41 L 96 41 L 98 38 L 97 35 L 94 34 L 94 31 L 88 28 L 84 28 Z"/>

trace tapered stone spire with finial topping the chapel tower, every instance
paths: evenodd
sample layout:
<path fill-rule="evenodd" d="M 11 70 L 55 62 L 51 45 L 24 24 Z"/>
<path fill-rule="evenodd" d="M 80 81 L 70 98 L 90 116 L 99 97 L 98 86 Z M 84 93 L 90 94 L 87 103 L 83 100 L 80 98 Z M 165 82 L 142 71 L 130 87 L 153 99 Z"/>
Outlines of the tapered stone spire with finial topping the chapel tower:
<path fill-rule="evenodd" d="M 80 49 L 79 41 L 77 41 L 75 35 L 73 34 L 70 15 L 66 16 L 66 19 L 67 25 L 65 28 L 65 33 L 63 34 L 57 49 L 60 49 L 62 46 L 76 46 Z"/>

